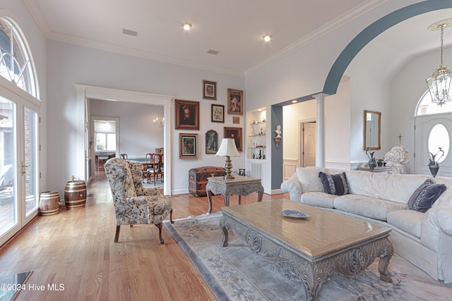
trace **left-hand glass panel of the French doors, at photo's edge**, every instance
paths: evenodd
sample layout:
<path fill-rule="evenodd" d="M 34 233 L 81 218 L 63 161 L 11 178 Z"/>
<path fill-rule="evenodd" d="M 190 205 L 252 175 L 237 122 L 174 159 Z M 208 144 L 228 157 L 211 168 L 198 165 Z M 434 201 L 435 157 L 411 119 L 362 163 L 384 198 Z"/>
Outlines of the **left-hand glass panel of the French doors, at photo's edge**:
<path fill-rule="evenodd" d="M 18 223 L 16 104 L 0 97 L 0 236 Z"/>

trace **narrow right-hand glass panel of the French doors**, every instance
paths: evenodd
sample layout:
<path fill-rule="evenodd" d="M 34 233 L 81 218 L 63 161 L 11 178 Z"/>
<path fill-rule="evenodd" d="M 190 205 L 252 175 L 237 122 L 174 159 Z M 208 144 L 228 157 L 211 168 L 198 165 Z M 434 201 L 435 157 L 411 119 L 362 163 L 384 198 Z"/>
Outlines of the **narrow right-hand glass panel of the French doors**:
<path fill-rule="evenodd" d="M 37 113 L 28 108 L 24 109 L 24 152 L 25 161 L 23 170 L 25 172 L 25 216 L 37 209 L 39 192 L 38 166 L 37 166 Z"/>

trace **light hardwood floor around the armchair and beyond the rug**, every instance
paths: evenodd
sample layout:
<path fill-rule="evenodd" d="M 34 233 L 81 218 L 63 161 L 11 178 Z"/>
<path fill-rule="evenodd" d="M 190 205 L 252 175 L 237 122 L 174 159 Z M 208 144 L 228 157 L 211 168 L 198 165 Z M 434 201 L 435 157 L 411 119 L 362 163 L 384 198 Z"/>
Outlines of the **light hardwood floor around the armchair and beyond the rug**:
<path fill-rule="evenodd" d="M 264 195 L 263 201 L 289 198 Z M 242 197 L 256 202 L 257 194 Z M 231 198 L 231 205 L 237 197 Z M 213 197 L 213 212 L 224 206 Z M 207 197 L 175 195 L 173 219 L 205 214 Z M 167 218 L 169 219 L 169 217 Z M 176 221 L 177 222 L 177 221 Z M 17 300 L 215 300 L 190 259 L 153 225 L 121 226 L 114 242 L 114 208 L 105 173 L 88 185 L 85 208 L 37 216 L 0 248 L 0 276 L 33 271 Z M 219 233 L 220 235 L 220 233 Z M 51 290 L 49 285 L 62 290 Z M 44 285 L 43 290 L 32 290 Z"/>

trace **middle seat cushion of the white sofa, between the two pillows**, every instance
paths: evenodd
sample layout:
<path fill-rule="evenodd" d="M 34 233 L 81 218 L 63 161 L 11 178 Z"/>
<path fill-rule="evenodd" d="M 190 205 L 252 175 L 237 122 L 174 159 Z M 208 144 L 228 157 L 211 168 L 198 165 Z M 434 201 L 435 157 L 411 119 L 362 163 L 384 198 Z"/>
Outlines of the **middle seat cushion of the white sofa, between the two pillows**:
<path fill-rule="evenodd" d="M 388 212 L 408 209 L 406 204 L 364 197 L 362 195 L 342 195 L 334 199 L 335 209 L 371 219 L 386 221 Z"/>

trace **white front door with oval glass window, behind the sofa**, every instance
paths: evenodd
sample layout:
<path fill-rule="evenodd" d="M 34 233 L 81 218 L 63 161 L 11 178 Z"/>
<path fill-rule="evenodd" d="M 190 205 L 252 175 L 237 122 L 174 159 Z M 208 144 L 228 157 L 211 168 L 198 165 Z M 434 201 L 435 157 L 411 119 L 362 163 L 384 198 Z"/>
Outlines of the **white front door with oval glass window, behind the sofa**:
<path fill-rule="evenodd" d="M 428 164 L 432 158 L 429 153 L 438 153 L 437 161 L 441 156 L 441 147 L 444 156 L 440 159 L 436 176 L 452 177 L 451 134 L 452 113 L 415 118 L 415 173 L 430 175 Z"/>

